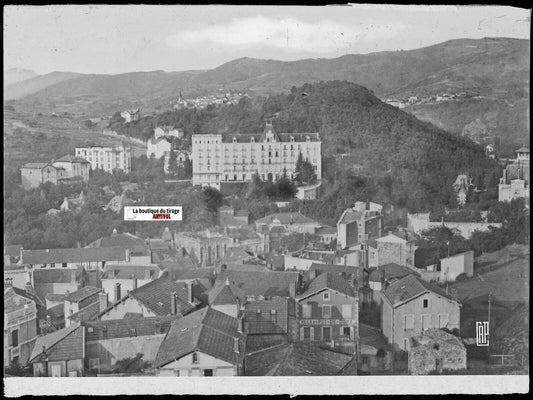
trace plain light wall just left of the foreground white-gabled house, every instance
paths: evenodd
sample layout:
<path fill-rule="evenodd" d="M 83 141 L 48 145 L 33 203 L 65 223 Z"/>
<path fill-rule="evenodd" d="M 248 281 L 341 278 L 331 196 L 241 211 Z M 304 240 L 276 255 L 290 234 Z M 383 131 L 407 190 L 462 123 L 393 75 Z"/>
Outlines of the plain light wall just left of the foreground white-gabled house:
<path fill-rule="evenodd" d="M 143 354 L 143 361 L 153 363 L 165 334 L 105 339 L 85 344 L 85 366 L 98 360 L 99 372 L 110 370 L 118 360 Z"/>

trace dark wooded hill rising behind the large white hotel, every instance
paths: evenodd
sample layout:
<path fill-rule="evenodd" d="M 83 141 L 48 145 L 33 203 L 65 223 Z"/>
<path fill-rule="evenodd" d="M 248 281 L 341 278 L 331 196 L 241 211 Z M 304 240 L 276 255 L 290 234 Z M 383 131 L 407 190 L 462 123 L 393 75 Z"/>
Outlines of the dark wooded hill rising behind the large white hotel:
<path fill-rule="evenodd" d="M 187 137 L 258 133 L 269 119 L 278 132 L 320 133 L 326 177 L 332 173 L 328 157 L 350 152 L 373 177 L 372 193 L 381 193 L 383 201 L 409 205 L 410 210 L 453 205 L 452 184 L 460 173 L 470 174 L 480 189 L 497 183 L 497 167 L 480 146 L 421 122 L 346 81 L 306 84 L 290 93 L 242 99 L 219 109 L 167 112 L 125 126 L 123 133 L 149 134 L 159 124 L 180 126 Z"/>

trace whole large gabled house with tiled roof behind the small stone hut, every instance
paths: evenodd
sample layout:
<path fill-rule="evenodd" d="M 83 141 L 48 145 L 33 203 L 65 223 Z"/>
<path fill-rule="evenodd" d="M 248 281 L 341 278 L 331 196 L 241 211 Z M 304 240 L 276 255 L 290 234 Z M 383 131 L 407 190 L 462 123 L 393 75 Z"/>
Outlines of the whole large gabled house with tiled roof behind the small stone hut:
<path fill-rule="evenodd" d="M 427 329 L 459 329 L 461 305 L 438 286 L 407 275 L 381 291 L 381 329 L 395 349 Z"/>

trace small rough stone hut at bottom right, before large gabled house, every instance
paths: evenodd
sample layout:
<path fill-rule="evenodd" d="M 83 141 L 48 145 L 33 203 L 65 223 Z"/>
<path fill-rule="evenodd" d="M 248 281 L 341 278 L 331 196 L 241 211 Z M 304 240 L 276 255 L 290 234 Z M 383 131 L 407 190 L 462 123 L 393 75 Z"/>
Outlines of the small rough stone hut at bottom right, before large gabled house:
<path fill-rule="evenodd" d="M 461 338 L 438 329 L 411 338 L 408 353 L 411 375 L 466 369 L 466 347 Z"/>

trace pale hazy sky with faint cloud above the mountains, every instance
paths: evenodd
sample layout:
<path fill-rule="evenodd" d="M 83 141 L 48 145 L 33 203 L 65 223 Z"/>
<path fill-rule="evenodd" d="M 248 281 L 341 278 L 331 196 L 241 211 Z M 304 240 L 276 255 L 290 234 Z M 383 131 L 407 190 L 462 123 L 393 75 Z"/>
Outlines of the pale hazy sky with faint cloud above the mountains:
<path fill-rule="evenodd" d="M 450 39 L 530 38 L 508 6 L 4 7 L 4 71 L 119 74 L 215 68 L 241 57 L 293 61 L 410 50 Z"/>

